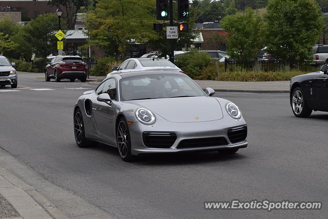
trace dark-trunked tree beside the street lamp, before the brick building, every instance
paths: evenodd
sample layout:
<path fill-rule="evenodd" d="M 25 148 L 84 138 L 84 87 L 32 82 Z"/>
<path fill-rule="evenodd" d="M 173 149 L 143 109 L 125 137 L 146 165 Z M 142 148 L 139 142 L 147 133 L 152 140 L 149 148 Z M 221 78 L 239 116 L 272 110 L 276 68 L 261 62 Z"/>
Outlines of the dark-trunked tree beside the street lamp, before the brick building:
<path fill-rule="evenodd" d="M 38 0 L 33 0 L 38 1 Z M 93 4 L 92 0 L 49 0 L 49 4 L 55 7 L 64 6 L 65 12 L 63 17 L 66 18 L 66 22 L 69 30 L 74 30 L 76 23 L 77 12 L 81 8 L 88 8 Z"/>

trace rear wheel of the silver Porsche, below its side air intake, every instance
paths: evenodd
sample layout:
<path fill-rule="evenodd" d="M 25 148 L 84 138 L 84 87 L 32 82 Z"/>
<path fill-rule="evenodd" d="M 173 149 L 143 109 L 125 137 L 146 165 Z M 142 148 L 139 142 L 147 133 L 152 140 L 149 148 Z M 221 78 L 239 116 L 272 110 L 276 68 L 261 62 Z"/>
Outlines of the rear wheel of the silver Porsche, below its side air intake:
<path fill-rule="evenodd" d="M 74 137 L 78 147 L 90 146 L 90 141 L 86 139 L 83 116 L 79 108 L 74 113 Z"/>

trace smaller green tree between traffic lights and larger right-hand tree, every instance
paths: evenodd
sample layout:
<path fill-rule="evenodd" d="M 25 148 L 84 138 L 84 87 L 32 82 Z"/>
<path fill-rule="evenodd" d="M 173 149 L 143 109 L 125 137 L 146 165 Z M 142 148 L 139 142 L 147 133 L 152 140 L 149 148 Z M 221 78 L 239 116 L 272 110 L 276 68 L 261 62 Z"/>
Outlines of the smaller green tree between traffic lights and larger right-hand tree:
<path fill-rule="evenodd" d="M 245 63 L 255 59 L 263 48 L 263 23 L 260 16 L 251 8 L 245 15 L 234 14 L 224 17 L 222 27 L 227 31 L 227 53 L 233 60 Z"/>

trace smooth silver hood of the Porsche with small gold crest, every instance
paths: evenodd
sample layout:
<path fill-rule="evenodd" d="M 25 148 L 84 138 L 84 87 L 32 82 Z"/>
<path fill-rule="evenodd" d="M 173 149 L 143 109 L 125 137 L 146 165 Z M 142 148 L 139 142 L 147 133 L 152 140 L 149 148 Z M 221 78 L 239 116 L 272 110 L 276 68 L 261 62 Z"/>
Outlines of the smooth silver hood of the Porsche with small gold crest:
<path fill-rule="evenodd" d="M 213 97 L 177 97 L 135 100 L 170 122 L 205 122 L 223 118 L 219 101 Z"/>

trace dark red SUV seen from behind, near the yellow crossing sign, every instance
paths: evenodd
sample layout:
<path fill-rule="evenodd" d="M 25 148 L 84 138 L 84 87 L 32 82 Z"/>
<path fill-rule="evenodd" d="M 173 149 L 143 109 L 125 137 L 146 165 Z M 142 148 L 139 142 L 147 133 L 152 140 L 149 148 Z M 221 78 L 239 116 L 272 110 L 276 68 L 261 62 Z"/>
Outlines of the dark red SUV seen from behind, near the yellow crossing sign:
<path fill-rule="evenodd" d="M 45 71 L 46 81 L 54 78 L 59 82 L 60 79 L 70 79 L 72 82 L 75 79 L 80 79 L 81 82 L 87 80 L 86 63 L 79 56 L 61 56 L 54 57 L 46 66 Z"/>

